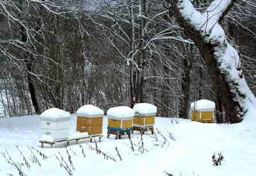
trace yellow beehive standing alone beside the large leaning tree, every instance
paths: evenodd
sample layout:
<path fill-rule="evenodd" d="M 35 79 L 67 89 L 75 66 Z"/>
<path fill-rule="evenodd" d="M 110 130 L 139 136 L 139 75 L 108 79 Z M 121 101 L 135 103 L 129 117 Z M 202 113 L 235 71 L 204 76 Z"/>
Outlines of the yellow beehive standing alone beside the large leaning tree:
<path fill-rule="evenodd" d="M 207 99 L 201 99 L 191 103 L 192 121 L 202 123 L 214 122 L 215 103 Z"/>

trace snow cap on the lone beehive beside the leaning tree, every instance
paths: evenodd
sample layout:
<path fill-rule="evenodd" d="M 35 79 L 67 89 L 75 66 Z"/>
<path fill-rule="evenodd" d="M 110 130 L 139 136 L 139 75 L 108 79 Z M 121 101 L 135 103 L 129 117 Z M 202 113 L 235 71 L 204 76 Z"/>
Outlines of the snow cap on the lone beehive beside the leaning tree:
<path fill-rule="evenodd" d="M 207 110 L 214 110 L 215 109 L 215 102 L 212 102 L 210 100 L 207 99 L 201 99 L 199 101 L 195 101 L 193 103 L 191 103 L 190 106 L 191 110 L 203 110 L 203 111 L 207 111 Z"/>

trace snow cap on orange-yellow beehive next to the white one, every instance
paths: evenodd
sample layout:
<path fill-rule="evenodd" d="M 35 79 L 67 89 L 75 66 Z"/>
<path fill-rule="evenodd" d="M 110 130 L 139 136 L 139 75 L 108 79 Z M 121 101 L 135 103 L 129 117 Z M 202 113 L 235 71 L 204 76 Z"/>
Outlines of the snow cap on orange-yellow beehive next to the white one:
<path fill-rule="evenodd" d="M 76 111 L 76 114 L 86 116 L 86 117 L 92 117 L 92 116 L 95 117 L 95 116 L 103 116 L 104 111 L 94 105 L 84 105 Z"/>

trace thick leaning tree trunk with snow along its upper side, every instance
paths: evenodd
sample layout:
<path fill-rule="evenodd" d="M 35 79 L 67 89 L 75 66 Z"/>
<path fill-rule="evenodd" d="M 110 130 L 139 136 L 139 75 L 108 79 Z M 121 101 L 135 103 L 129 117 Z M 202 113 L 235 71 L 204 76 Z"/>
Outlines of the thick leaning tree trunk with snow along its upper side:
<path fill-rule="evenodd" d="M 215 0 L 205 13 L 195 10 L 189 0 L 168 0 L 173 13 L 184 28 L 184 33 L 195 42 L 212 78 L 213 90 L 220 95 L 220 102 L 230 123 L 240 122 L 250 105 L 255 105 L 242 75 L 238 52 L 225 38 L 219 21 L 234 4 L 232 0 Z"/>

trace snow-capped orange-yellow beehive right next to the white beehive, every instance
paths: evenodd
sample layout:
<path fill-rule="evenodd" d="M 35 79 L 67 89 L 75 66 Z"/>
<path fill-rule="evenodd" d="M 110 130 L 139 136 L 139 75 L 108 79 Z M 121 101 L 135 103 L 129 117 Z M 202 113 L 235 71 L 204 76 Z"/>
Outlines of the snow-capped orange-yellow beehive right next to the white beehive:
<path fill-rule="evenodd" d="M 93 105 L 84 105 L 76 111 L 76 131 L 87 132 L 90 136 L 102 135 L 104 111 Z"/>

